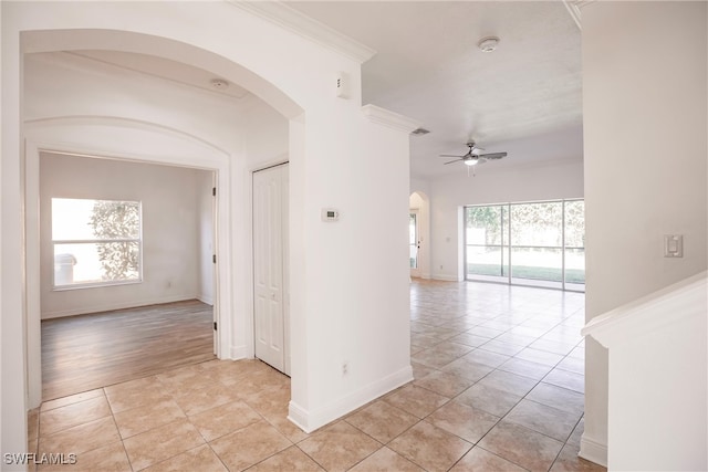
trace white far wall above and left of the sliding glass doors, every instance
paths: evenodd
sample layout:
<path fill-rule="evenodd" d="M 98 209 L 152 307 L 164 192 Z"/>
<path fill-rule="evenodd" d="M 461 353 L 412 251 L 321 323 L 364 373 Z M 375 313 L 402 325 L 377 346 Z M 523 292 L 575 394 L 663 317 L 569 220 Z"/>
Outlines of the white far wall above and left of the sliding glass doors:
<path fill-rule="evenodd" d="M 459 172 L 430 182 L 433 279 L 459 281 L 462 272 L 461 207 L 466 204 L 558 200 L 583 197 L 580 156 L 568 162 L 544 162 L 514 168 L 485 164 L 475 176 Z"/>

